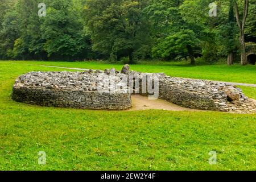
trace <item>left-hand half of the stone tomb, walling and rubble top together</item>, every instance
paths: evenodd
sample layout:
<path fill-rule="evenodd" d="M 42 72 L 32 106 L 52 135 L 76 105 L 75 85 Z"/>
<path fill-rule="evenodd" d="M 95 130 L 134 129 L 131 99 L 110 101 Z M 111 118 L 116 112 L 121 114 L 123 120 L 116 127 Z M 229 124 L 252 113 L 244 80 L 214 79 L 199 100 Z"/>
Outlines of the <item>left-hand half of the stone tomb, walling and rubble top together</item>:
<path fill-rule="evenodd" d="M 43 106 L 110 110 L 131 107 L 129 93 L 99 92 L 98 88 L 104 84 L 100 75 L 88 72 L 31 72 L 16 80 L 12 97 L 15 101 Z"/>

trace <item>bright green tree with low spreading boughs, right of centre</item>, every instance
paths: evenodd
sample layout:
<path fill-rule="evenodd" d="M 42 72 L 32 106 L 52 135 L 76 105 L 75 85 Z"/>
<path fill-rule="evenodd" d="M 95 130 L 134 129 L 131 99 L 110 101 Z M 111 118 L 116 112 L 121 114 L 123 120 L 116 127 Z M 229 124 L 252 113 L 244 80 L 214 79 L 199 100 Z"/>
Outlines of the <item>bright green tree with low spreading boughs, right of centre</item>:
<path fill-rule="evenodd" d="M 199 2 L 199 1 L 197 1 Z M 154 57 L 174 59 L 187 56 L 195 65 L 195 52 L 201 53 L 200 42 L 208 39 L 205 26 L 197 19 L 191 19 L 187 12 L 197 5 L 194 1 L 153 0 L 145 9 L 154 24 Z"/>

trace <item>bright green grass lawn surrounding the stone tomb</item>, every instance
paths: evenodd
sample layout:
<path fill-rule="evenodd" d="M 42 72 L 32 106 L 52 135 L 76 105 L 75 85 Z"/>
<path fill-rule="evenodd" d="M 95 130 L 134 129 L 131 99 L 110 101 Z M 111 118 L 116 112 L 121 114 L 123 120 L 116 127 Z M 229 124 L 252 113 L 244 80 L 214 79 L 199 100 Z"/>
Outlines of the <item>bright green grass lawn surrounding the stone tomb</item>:
<path fill-rule="evenodd" d="M 24 63 L 0 63 L 0 170 L 256 169 L 255 114 L 92 111 L 27 105 L 10 98 L 16 77 L 30 71 L 64 70 L 28 64 L 94 69 L 121 65 Z M 168 75 L 175 67 L 132 66 L 138 71 L 168 71 Z M 179 68 L 175 76 L 194 77 L 195 70 L 201 69 L 198 76 L 210 80 L 214 80 L 213 75 L 217 80 L 255 83 L 255 67 L 250 66 L 235 65 L 230 72 L 225 66 L 183 69 L 186 67 Z M 207 70 L 212 72 L 207 74 Z M 236 70 L 239 72 L 234 77 Z M 255 88 L 242 89 L 256 98 Z M 45 166 L 38 164 L 39 151 L 46 152 Z M 217 152 L 216 165 L 208 163 L 210 151 Z"/>

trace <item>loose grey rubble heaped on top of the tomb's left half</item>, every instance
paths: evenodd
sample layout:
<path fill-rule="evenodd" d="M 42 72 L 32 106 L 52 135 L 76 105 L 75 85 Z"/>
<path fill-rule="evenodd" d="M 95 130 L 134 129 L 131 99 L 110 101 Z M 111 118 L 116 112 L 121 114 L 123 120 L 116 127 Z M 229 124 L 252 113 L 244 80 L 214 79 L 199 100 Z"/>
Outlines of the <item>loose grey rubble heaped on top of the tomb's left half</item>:
<path fill-rule="evenodd" d="M 108 72 L 106 70 L 105 72 Z M 111 72 L 114 72 L 113 74 Z M 41 87 L 46 89 L 78 89 L 84 91 L 97 91 L 122 82 L 122 73 L 114 69 L 105 74 L 103 71 L 85 72 L 30 72 L 19 76 L 15 84 L 20 87 Z M 110 83 L 113 82 L 112 85 Z"/>

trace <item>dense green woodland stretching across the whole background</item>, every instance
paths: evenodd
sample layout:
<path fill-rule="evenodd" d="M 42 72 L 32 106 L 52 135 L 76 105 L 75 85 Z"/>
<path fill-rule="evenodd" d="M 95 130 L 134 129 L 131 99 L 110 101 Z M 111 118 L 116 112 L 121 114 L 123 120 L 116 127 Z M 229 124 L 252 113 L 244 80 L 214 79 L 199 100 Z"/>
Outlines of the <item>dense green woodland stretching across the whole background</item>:
<path fill-rule="evenodd" d="M 1 0 L 0 59 L 253 63 L 246 45 L 256 41 L 256 0 L 214 1 L 210 17 L 212 2 Z"/>

